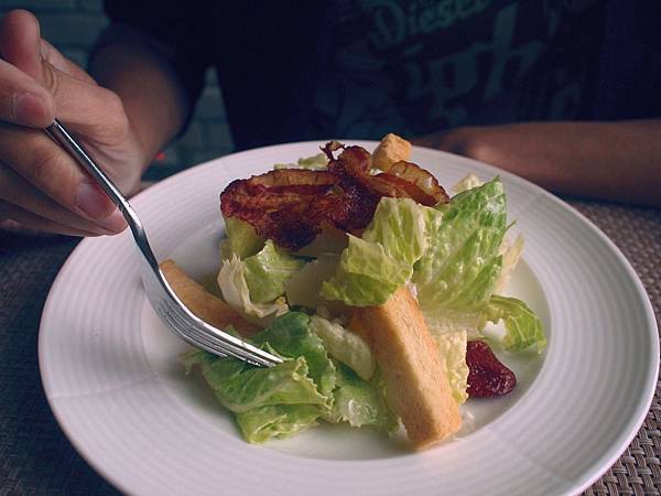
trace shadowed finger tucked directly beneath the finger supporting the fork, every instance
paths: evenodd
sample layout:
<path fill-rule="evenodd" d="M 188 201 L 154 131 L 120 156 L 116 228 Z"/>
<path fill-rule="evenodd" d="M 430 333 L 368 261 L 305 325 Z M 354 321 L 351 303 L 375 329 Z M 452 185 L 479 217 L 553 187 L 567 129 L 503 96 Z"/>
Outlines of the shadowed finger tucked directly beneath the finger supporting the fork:
<path fill-rule="evenodd" d="M 123 218 L 119 213 L 110 215 L 98 223 L 74 214 L 48 198 L 11 168 L 2 163 L 0 163 L 0 200 L 30 211 L 40 217 L 88 233 L 116 234 L 122 230 L 124 226 Z"/>

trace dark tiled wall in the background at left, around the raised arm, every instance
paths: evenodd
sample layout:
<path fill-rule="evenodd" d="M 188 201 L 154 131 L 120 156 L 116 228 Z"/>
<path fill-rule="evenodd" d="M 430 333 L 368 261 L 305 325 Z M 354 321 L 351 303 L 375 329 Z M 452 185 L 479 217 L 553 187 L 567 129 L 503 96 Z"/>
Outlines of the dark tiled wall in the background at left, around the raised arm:
<path fill-rule="evenodd" d="M 42 35 L 82 66 L 99 32 L 108 24 L 101 0 L 0 0 L 0 17 L 26 9 L 40 20 Z M 147 179 L 161 179 L 185 166 L 227 154 L 232 143 L 215 74 L 209 71 L 187 132 L 150 168 Z"/>

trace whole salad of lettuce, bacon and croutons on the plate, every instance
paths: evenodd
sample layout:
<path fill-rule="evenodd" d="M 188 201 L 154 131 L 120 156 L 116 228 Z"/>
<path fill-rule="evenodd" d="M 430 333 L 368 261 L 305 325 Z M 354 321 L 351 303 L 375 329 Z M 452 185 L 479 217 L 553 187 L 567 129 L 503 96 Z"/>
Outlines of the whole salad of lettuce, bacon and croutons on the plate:
<path fill-rule="evenodd" d="M 468 175 L 449 197 L 394 134 L 371 154 L 322 150 L 227 186 L 220 269 L 204 288 L 162 266 L 194 313 L 284 362 L 203 351 L 181 362 L 199 368 L 248 442 L 347 422 L 386 434 L 403 424 L 427 448 L 460 428 L 469 397 L 514 387 L 489 341 L 545 346 L 534 312 L 502 295 L 523 240 L 508 236 L 498 177 Z M 489 322 L 505 332 L 487 337 Z"/>

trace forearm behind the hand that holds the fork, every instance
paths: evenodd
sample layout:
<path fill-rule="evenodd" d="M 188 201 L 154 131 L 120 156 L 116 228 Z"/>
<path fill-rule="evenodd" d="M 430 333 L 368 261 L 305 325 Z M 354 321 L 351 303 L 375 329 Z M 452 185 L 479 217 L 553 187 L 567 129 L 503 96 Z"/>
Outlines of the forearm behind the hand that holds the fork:
<path fill-rule="evenodd" d="M 181 130 L 188 98 L 167 63 L 149 47 L 110 42 L 90 60 L 90 74 L 119 95 L 142 148 L 142 169 Z"/>

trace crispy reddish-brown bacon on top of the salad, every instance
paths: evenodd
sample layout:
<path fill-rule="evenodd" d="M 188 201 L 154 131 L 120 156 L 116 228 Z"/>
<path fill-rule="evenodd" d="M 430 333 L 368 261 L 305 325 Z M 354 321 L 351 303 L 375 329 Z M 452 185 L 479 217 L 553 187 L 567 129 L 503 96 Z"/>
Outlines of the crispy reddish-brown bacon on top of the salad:
<path fill-rule="evenodd" d="M 329 160 L 327 172 L 280 169 L 234 181 L 220 194 L 223 214 L 299 250 L 324 227 L 359 234 L 383 196 L 409 197 L 430 206 L 448 202 L 436 179 L 413 163 L 398 162 L 388 172 L 372 175 L 371 155 L 364 148 L 330 141 L 322 150 Z"/>

